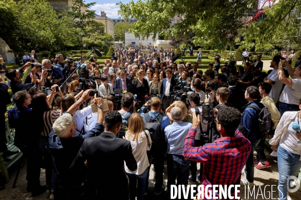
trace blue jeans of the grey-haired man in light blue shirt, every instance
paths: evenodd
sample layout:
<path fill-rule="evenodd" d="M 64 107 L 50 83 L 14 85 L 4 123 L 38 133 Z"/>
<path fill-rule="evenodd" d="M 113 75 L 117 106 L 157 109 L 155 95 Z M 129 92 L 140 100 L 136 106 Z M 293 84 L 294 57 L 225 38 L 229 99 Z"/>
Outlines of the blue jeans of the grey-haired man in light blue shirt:
<path fill-rule="evenodd" d="M 171 191 L 171 185 L 188 184 L 190 160 L 183 155 L 167 154 L 167 187 Z"/>

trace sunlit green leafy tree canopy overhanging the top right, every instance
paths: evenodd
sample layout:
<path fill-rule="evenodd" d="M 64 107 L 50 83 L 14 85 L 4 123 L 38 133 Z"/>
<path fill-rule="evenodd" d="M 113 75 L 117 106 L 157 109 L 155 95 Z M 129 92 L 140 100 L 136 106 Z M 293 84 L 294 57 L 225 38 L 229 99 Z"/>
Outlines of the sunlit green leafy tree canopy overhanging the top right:
<path fill-rule="evenodd" d="M 235 39 L 243 36 L 245 45 L 255 47 L 255 43 L 260 43 L 258 49 L 269 49 L 267 43 L 282 46 L 279 39 L 299 42 L 299 11 L 294 13 L 290 10 L 300 8 L 300 2 L 279 0 L 271 8 L 264 8 L 266 19 L 250 24 L 243 24 L 242 19 L 246 13 L 256 10 L 256 0 L 131 0 L 117 4 L 122 17 L 137 19 L 131 28 L 136 36 L 149 36 L 159 31 L 165 39 L 181 41 L 186 37 L 205 48 L 235 44 Z M 172 24 L 175 15 L 183 16 L 183 20 Z"/>

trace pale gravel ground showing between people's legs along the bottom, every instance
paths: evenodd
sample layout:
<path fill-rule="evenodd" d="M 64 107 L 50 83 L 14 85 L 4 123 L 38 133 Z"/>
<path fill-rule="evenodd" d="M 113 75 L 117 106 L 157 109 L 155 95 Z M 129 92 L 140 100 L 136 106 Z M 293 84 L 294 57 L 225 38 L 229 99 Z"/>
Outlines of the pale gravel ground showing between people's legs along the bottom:
<path fill-rule="evenodd" d="M 254 152 L 256 154 L 256 151 Z M 252 196 L 248 197 L 248 194 L 246 193 L 245 196 L 245 188 L 242 186 L 240 188 L 240 196 L 241 199 L 277 199 L 278 197 L 278 190 L 277 190 L 277 185 L 278 185 L 278 177 L 279 177 L 279 172 L 278 172 L 278 166 L 277 166 L 277 161 L 274 157 L 270 156 L 269 154 L 271 153 L 270 150 L 265 149 L 265 154 L 267 157 L 267 160 L 270 162 L 271 167 L 269 168 L 264 168 L 264 169 L 257 169 L 255 168 L 254 170 L 254 183 L 255 183 L 255 194 L 257 195 L 257 192 L 259 190 L 259 185 L 262 190 L 263 196 L 260 195 L 260 190 L 259 190 L 259 195 L 254 197 L 254 194 Z M 31 197 L 31 193 L 26 191 L 26 186 L 27 186 L 27 181 L 26 181 L 26 160 L 24 163 L 22 163 L 22 168 L 20 171 L 20 175 L 16 184 L 16 187 L 13 188 L 13 182 L 14 178 L 17 173 L 17 168 L 18 168 L 18 163 L 15 164 L 15 166 L 10 168 L 10 182 L 6 184 L 6 189 L 0 190 L 0 199 L 5 199 L 5 200 L 13 200 L 13 199 L 47 199 L 49 197 L 49 194 L 41 194 L 40 196 L 37 197 Z M 198 168 L 200 167 L 200 164 L 198 164 Z M 152 170 L 153 166 L 151 167 L 150 175 L 149 175 L 149 188 L 148 188 L 148 194 L 144 197 L 145 200 L 161 200 L 161 199 L 167 199 L 167 196 L 164 194 L 162 196 L 156 196 L 155 190 L 154 190 L 154 171 Z M 166 168 L 166 166 L 165 166 Z M 41 176 L 40 176 L 41 184 L 45 185 L 45 169 L 41 169 Z M 245 176 L 242 176 L 244 178 Z M 117 181 L 117 180 L 116 180 Z M 197 183 L 199 184 L 199 182 Z M 164 185 L 167 186 L 167 170 L 164 170 Z M 264 197 L 264 186 L 269 185 L 265 187 L 265 197 Z M 271 186 L 273 186 L 273 191 L 271 192 Z M 118 189 L 116 189 L 117 191 Z M 247 191 L 247 188 L 246 188 Z M 269 196 L 272 193 L 272 197 Z M 114 194 L 112 194 L 113 196 Z M 291 199 L 293 200 L 298 200 L 300 199 L 301 196 L 301 191 L 296 191 L 294 193 L 289 194 Z M 189 195 L 190 196 L 190 195 Z M 189 198 L 190 199 L 190 198 Z"/>

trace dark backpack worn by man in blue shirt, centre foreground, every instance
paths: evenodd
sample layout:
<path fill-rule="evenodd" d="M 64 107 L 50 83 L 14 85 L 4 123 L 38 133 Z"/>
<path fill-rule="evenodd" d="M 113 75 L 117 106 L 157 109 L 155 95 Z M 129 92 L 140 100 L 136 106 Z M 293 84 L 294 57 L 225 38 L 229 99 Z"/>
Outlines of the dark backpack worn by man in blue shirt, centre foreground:
<path fill-rule="evenodd" d="M 150 138 L 152 139 L 152 149 L 158 148 L 159 152 L 166 154 L 168 149 L 168 142 L 165 138 L 164 132 L 162 132 L 161 121 L 163 119 L 163 113 L 160 113 L 156 119 L 156 122 L 151 122 L 148 112 L 144 113 L 145 126 L 144 129 L 149 131 Z"/>

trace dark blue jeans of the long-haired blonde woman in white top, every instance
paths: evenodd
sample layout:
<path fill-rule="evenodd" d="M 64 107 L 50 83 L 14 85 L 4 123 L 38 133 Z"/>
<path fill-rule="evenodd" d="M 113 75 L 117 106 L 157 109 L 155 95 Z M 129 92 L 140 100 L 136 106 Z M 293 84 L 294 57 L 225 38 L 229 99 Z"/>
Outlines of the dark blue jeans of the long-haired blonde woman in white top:
<path fill-rule="evenodd" d="M 142 200 L 144 197 L 144 189 L 145 189 L 145 180 L 147 176 L 148 168 L 144 170 L 143 173 L 140 175 L 136 175 L 133 173 L 126 173 L 129 179 L 129 199 L 135 200 L 135 191 L 136 191 L 136 184 L 138 180 L 138 188 L 137 188 L 137 200 Z"/>

